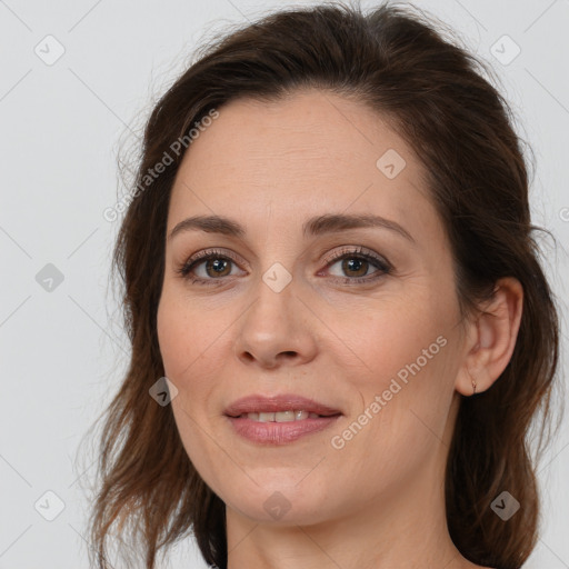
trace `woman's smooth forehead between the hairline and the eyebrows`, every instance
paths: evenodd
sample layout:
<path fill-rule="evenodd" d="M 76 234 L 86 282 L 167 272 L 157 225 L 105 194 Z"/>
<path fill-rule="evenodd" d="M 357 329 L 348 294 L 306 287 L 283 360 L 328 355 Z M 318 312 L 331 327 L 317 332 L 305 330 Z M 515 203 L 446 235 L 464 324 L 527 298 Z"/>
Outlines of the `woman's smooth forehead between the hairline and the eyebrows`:
<path fill-rule="evenodd" d="M 430 213 L 436 224 L 422 179 L 411 148 L 353 98 L 307 90 L 270 102 L 239 99 L 186 152 L 168 226 L 196 213 L 246 224 L 270 214 L 276 224 L 300 226 L 300 217 L 343 211 L 408 223 Z"/>

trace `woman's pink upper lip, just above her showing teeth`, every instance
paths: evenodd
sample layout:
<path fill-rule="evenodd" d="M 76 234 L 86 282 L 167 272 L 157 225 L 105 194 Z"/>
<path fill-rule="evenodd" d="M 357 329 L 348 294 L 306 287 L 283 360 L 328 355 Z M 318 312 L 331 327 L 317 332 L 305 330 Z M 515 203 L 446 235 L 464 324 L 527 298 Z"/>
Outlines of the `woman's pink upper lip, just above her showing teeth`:
<path fill-rule="evenodd" d="M 322 416 L 341 415 L 341 411 L 338 409 L 293 393 L 283 393 L 272 397 L 260 395 L 242 397 L 233 401 L 226 409 L 224 413 L 229 417 L 239 417 L 244 413 L 300 410 Z"/>

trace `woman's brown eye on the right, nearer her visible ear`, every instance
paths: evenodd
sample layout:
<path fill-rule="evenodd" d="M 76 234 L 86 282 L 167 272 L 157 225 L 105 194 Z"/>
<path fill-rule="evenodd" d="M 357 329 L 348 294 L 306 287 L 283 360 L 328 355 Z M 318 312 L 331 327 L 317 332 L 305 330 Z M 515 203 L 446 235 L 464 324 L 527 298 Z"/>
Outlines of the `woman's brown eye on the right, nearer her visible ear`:
<path fill-rule="evenodd" d="M 342 249 L 328 261 L 327 268 L 329 270 L 331 267 L 339 266 L 340 274 L 336 276 L 347 284 L 372 282 L 392 270 L 386 259 L 363 247 Z M 376 270 L 370 272 L 372 269 Z"/>

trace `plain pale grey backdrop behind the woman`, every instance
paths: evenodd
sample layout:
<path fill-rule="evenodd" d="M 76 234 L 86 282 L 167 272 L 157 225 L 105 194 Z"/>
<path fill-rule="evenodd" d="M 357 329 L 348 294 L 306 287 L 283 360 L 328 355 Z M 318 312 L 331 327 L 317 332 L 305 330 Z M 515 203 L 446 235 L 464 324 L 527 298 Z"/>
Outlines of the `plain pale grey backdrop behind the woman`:
<path fill-rule="evenodd" d="M 0 0 L 0 569 L 88 567 L 82 487 L 96 456 L 80 460 L 78 447 L 128 362 L 109 287 L 119 222 L 102 216 L 122 191 L 118 151 L 137 142 L 152 101 L 201 41 L 308 3 Z M 533 220 L 557 239 L 557 248 L 543 244 L 563 302 L 569 1 L 416 6 L 457 30 L 500 77 L 535 151 Z M 569 568 L 568 446 L 566 418 L 539 471 L 545 519 L 528 569 Z M 169 559 L 172 568 L 206 567 L 191 540 Z"/>

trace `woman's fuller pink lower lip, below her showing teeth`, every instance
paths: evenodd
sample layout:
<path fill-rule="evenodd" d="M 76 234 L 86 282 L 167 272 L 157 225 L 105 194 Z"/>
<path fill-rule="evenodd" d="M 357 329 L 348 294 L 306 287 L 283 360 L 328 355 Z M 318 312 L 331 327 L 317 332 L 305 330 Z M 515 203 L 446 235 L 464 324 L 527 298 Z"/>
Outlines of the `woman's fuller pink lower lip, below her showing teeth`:
<path fill-rule="evenodd" d="M 333 425 L 340 415 L 333 417 L 319 417 L 318 419 L 302 419 L 286 422 L 259 422 L 252 419 L 228 417 L 233 429 L 241 437 L 258 443 L 287 445 L 300 437 L 322 431 Z"/>

